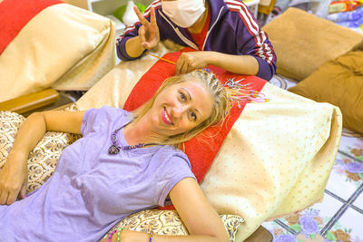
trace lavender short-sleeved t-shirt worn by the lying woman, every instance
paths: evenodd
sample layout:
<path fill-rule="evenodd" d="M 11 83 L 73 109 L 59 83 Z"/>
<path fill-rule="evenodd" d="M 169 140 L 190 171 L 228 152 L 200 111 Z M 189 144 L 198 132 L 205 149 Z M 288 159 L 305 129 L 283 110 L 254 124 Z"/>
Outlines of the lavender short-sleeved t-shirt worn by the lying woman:
<path fill-rule="evenodd" d="M 97 241 L 134 211 L 163 206 L 176 183 L 194 178 L 181 150 L 153 146 L 108 154 L 129 112 L 85 112 L 83 138 L 64 149 L 54 175 L 30 196 L 0 206 L 0 241 Z M 123 130 L 120 145 L 127 145 Z"/>

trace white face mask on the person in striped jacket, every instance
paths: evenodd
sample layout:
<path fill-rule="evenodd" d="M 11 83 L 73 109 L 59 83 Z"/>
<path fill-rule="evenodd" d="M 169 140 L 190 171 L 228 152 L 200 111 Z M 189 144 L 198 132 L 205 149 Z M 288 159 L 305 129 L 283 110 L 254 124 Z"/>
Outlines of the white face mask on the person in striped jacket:
<path fill-rule="evenodd" d="M 162 1 L 162 12 L 182 28 L 197 22 L 204 11 L 204 0 Z"/>

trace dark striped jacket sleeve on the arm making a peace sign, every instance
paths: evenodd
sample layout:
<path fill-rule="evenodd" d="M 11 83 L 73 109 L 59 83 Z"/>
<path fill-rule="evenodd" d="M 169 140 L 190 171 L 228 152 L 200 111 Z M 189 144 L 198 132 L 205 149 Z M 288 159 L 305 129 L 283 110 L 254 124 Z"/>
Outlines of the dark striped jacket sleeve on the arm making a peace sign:
<path fill-rule="evenodd" d="M 154 2 L 152 2 L 152 5 L 149 5 L 145 12 L 143 13 L 143 16 L 150 21 L 150 11 L 151 11 L 151 7 L 153 6 L 154 9 L 157 9 L 159 7 L 161 7 L 162 5 L 162 1 L 161 0 L 156 0 Z M 126 52 L 126 42 L 128 39 L 135 37 L 137 35 L 139 35 L 139 28 L 142 26 L 142 24 L 140 23 L 140 21 L 136 22 L 135 24 L 128 26 L 124 33 L 122 35 L 120 35 L 117 39 L 116 39 L 116 51 L 117 51 L 117 56 L 123 60 L 123 61 L 131 61 L 134 59 L 137 59 L 138 57 L 130 57 L 130 55 Z"/>

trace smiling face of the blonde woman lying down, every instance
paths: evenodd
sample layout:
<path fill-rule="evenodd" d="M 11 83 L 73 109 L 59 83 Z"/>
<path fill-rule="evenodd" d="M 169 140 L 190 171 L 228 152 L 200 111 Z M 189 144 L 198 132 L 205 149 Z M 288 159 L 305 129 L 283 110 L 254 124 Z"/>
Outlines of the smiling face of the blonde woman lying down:
<path fill-rule="evenodd" d="M 163 137 L 190 131 L 211 116 L 213 97 L 201 82 L 180 82 L 165 88 L 149 112 L 155 132 Z"/>

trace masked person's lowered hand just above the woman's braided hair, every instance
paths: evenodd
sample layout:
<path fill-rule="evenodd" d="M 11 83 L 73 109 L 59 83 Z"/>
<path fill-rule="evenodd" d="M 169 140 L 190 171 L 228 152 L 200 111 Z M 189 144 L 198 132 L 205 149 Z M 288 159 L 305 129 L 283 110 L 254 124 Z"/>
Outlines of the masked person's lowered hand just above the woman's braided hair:
<path fill-rule="evenodd" d="M 184 52 L 176 62 L 175 73 L 190 73 L 211 63 L 212 52 Z"/>

